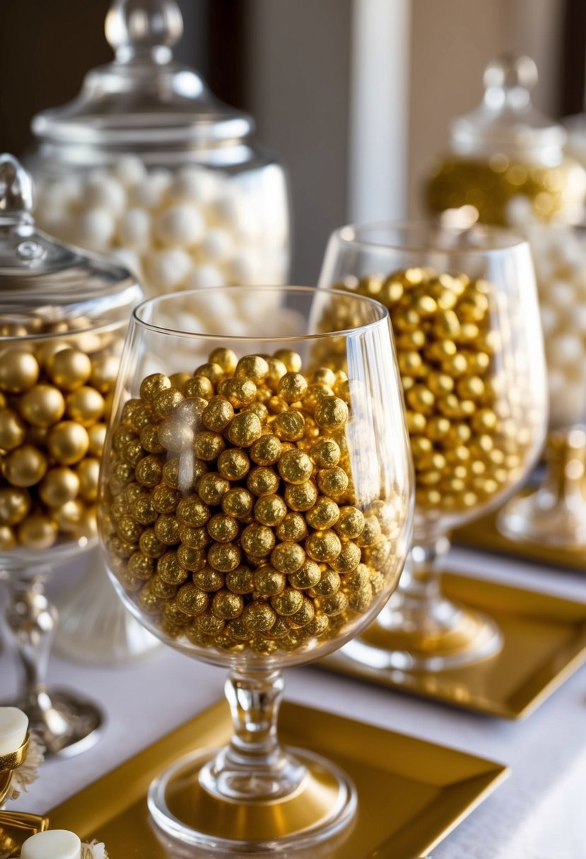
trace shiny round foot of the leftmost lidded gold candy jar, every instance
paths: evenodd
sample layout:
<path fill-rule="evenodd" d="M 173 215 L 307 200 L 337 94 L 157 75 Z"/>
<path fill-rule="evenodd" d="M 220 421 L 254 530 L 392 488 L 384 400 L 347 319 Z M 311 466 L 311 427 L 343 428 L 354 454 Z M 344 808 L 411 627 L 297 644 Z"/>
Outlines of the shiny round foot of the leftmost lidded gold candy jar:
<path fill-rule="evenodd" d="M 10 704 L 27 714 L 30 728 L 46 748 L 46 758 L 85 752 L 99 739 L 103 713 L 76 692 L 51 690 L 41 692 L 34 701 L 21 698 Z"/>

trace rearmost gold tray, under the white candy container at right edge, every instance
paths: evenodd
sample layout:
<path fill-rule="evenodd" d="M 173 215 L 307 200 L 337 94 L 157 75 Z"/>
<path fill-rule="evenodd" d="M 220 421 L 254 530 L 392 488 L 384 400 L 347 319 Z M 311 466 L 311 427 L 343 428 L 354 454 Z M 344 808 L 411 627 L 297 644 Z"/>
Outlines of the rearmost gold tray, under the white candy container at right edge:
<path fill-rule="evenodd" d="M 466 545 L 471 549 L 494 551 L 509 557 L 534 561 L 537 564 L 565 567 L 568 570 L 586 573 L 586 549 L 569 549 L 504 537 L 497 529 L 497 513 L 457 528 L 452 533 L 452 539 L 455 544 Z"/>

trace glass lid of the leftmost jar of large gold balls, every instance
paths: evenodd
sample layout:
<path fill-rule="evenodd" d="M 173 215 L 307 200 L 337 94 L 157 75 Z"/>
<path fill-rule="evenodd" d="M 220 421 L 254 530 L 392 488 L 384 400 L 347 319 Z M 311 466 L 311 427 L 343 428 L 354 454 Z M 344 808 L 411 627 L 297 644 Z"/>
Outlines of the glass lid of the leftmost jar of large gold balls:
<path fill-rule="evenodd" d="M 142 290 L 129 271 L 35 227 L 33 180 L 0 155 L 0 336 L 77 330 L 124 318 Z"/>

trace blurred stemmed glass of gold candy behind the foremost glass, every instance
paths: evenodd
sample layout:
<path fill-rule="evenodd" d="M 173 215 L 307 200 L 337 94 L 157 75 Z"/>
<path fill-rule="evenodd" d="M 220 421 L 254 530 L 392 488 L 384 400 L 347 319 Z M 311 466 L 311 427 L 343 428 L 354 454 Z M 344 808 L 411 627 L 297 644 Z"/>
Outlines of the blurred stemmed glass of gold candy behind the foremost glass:
<path fill-rule="evenodd" d="M 497 653 L 497 625 L 447 600 L 437 567 L 449 531 L 503 503 L 534 465 L 546 383 L 528 243 L 498 228 L 346 226 L 320 287 L 390 312 L 415 466 L 414 542 L 400 588 L 345 653 L 429 671 Z"/>

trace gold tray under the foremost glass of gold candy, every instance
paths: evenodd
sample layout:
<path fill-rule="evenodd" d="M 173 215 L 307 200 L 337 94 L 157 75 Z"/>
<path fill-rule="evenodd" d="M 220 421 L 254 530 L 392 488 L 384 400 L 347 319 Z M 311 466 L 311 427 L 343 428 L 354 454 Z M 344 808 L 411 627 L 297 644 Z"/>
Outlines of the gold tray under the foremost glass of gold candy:
<path fill-rule="evenodd" d="M 416 859 L 429 854 L 508 775 L 503 765 L 445 746 L 285 703 L 284 742 L 309 746 L 344 767 L 358 791 L 358 815 L 343 842 L 312 859 Z M 194 747 L 229 740 L 223 702 L 158 740 L 49 812 L 51 828 L 103 841 L 110 859 L 170 859 L 149 822 L 146 793 L 163 767 Z M 323 852 L 323 850 L 326 852 Z M 192 849 L 193 850 L 193 849 Z M 192 852 L 187 856 L 208 856 Z M 294 859 L 297 854 L 289 854 Z M 301 856 L 301 855 L 300 855 Z"/>

